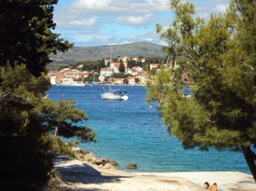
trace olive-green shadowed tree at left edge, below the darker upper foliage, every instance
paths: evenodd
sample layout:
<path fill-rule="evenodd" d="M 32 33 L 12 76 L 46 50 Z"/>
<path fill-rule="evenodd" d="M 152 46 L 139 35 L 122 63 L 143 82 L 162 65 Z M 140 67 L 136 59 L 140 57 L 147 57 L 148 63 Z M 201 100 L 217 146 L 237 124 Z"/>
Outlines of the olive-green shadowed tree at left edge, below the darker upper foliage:
<path fill-rule="evenodd" d="M 38 190 L 50 178 L 50 142 L 44 140 L 48 130 L 37 110 L 49 85 L 43 76 L 33 77 L 24 65 L 5 68 L 0 92 L 1 189 Z"/>

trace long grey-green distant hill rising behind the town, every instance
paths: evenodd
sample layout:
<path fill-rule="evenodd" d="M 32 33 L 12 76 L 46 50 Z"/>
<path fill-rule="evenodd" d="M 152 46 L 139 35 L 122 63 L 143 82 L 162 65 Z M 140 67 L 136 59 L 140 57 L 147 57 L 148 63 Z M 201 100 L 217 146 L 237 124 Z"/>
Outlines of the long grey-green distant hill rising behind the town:
<path fill-rule="evenodd" d="M 70 65 L 89 60 L 108 59 L 111 46 L 88 46 L 73 47 L 65 53 L 51 54 L 52 63 L 48 65 L 50 68 L 60 67 L 60 65 Z M 113 45 L 113 59 L 118 56 L 130 57 L 159 57 L 164 58 L 166 55 L 162 51 L 162 46 L 151 42 L 135 42 L 124 45 Z"/>

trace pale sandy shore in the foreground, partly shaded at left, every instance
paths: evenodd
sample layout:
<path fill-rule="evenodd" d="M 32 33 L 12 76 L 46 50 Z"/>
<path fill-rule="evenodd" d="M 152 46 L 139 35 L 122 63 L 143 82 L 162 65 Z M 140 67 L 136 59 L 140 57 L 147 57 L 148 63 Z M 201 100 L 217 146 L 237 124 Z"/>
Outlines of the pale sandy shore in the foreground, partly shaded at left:
<path fill-rule="evenodd" d="M 179 190 L 204 191 L 205 181 L 220 190 L 256 190 L 253 176 L 238 171 L 133 172 L 103 169 L 90 163 L 55 154 L 63 190 Z"/>

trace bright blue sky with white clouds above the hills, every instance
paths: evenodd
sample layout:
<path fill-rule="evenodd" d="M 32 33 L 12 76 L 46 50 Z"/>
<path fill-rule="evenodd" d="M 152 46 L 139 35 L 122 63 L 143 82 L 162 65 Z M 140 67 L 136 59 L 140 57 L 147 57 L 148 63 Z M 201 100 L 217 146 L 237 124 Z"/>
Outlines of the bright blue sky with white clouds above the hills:
<path fill-rule="evenodd" d="M 196 15 L 205 20 L 223 12 L 229 0 L 190 0 Z M 164 44 L 156 24 L 168 27 L 174 20 L 170 0 L 59 0 L 53 33 L 74 46 L 109 46 L 149 41 Z"/>

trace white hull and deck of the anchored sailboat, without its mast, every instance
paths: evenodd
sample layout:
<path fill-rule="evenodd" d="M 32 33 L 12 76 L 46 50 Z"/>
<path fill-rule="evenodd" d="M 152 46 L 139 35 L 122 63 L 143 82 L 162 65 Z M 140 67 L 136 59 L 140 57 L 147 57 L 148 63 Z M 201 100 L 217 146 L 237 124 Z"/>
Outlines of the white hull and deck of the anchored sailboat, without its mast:
<path fill-rule="evenodd" d="M 103 87 L 104 90 L 104 87 Z M 109 88 L 109 92 L 101 93 L 102 99 L 108 100 L 127 100 L 129 98 L 128 92 L 123 89 L 111 89 Z"/>

